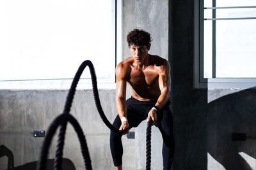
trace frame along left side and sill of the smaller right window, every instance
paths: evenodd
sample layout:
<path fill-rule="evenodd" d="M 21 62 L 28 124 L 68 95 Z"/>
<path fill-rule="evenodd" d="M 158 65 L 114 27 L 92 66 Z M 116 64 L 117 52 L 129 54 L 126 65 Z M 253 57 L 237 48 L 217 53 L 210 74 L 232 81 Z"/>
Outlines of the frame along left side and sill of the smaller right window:
<path fill-rule="evenodd" d="M 194 88 L 247 89 L 256 87 L 256 78 L 204 78 L 204 8 L 202 8 L 204 0 L 195 0 L 194 3 Z M 214 64 L 213 62 L 212 66 Z"/>

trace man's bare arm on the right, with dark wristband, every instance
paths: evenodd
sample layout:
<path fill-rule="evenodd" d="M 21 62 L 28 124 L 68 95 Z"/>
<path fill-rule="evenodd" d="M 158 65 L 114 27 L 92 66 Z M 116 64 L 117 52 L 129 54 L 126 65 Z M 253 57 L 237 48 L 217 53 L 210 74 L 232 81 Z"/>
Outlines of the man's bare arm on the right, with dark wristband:
<path fill-rule="evenodd" d="M 161 95 L 157 99 L 156 107 L 153 107 L 149 113 L 147 122 L 152 120 L 156 122 L 157 120 L 157 110 L 164 107 L 167 101 L 170 99 L 170 90 L 171 90 L 171 78 L 170 78 L 170 64 L 167 60 L 164 60 L 163 66 L 160 66 L 159 69 L 159 89 L 161 90 Z"/>

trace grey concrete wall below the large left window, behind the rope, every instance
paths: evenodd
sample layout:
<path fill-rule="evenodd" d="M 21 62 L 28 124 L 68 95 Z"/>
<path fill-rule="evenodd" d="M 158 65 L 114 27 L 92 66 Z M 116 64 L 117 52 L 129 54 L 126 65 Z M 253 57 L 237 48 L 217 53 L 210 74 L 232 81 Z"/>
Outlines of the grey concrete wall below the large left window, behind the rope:
<path fill-rule="evenodd" d="M 100 90 L 100 101 L 106 116 L 113 122 L 115 111 L 115 90 Z M 52 120 L 62 111 L 67 90 L 26 90 L 0 92 L 0 144 L 14 155 L 15 167 L 38 160 L 44 138 L 34 138 L 33 130 L 47 129 Z M 92 90 L 77 91 L 72 104 L 72 115 L 83 128 L 92 159 L 93 169 L 111 169 L 109 150 L 109 129 L 103 124 L 96 110 Z M 53 139 L 49 159 L 54 159 L 56 138 Z M 134 141 L 124 138 L 127 150 Z M 128 159 L 126 167 L 132 168 Z M 84 169 L 83 157 L 76 132 L 68 125 L 63 157 L 71 160 L 76 169 Z M 6 159 L 0 159 L 0 169 L 6 169 Z M 27 169 L 27 168 L 24 168 Z"/>

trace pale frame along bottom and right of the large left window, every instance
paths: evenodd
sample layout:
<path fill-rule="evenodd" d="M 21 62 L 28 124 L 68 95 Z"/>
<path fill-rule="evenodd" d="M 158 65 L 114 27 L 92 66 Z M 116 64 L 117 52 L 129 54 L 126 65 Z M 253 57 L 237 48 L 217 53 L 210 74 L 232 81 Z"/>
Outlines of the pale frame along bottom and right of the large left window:
<path fill-rule="evenodd" d="M 112 9 L 115 18 L 115 66 L 122 61 L 122 0 L 111 0 Z M 78 69 L 79 66 L 77 66 Z M 115 68 L 114 68 L 115 69 Z M 114 71 L 115 74 L 115 71 Z M 115 76 L 114 76 L 115 77 Z M 114 80 L 115 79 L 115 80 Z M 115 89 L 116 78 L 111 82 L 102 82 L 98 80 L 99 89 Z M 88 81 L 89 80 L 89 81 Z M 73 78 L 56 78 L 56 79 L 36 79 L 36 80 L 1 80 L 0 90 L 67 90 Z M 90 78 L 81 78 L 77 89 L 92 89 Z"/>

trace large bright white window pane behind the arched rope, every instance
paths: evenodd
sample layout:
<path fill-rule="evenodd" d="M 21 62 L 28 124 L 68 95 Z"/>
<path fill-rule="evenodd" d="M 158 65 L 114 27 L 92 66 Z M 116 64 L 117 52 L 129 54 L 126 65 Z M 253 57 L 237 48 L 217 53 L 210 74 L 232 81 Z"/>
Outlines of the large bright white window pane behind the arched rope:
<path fill-rule="evenodd" d="M 0 83 L 65 83 L 84 60 L 115 83 L 116 1 L 0 1 L 0 24 Z"/>

